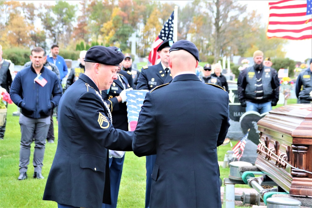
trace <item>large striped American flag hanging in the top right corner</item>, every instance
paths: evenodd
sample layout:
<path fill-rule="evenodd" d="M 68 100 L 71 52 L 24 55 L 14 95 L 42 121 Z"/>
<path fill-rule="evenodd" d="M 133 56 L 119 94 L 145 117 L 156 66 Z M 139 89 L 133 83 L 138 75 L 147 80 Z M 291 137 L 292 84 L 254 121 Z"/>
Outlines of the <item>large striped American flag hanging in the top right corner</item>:
<path fill-rule="evenodd" d="M 312 0 L 274 1 L 269 8 L 268 38 L 312 38 Z"/>

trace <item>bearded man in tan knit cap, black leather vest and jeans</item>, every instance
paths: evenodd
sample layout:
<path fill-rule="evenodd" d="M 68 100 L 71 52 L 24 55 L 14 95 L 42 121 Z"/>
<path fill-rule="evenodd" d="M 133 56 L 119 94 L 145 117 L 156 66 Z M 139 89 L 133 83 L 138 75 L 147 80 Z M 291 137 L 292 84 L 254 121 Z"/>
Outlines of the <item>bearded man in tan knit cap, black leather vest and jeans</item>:
<path fill-rule="evenodd" d="M 255 64 L 239 73 L 237 79 L 238 98 L 247 111 L 260 114 L 272 110 L 279 99 L 280 82 L 277 72 L 263 65 L 263 52 L 253 54 Z"/>

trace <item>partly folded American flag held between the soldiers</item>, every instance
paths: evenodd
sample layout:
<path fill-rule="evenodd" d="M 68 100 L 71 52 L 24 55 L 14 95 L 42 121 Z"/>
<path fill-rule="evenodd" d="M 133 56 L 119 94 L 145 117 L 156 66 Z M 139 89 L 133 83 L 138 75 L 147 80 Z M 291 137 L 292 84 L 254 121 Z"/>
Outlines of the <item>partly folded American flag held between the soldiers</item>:
<path fill-rule="evenodd" d="M 126 92 L 129 131 L 134 131 L 138 124 L 139 113 L 147 92 L 148 90 L 130 90 Z"/>

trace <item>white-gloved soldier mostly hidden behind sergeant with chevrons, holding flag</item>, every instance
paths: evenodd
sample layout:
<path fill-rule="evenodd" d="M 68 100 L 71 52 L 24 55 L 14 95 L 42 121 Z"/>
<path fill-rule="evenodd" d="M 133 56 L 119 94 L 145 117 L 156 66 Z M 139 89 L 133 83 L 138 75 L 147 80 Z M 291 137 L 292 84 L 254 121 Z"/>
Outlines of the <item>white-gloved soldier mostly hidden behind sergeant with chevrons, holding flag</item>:
<path fill-rule="evenodd" d="M 108 47 L 115 51 L 121 51 L 116 46 Z M 128 131 L 127 105 L 126 105 L 126 91 L 132 90 L 128 84 L 128 80 L 119 74 L 122 68 L 120 63 L 117 70 L 117 80 L 114 80 L 110 85 L 110 89 L 102 91 L 102 97 L 107 103 L 108 108 L 112 114 L 113 126 L 115 129 Z M 132 77 L 131 77 L 132 79 Z M 119 186 L 124 165 L 124 152 L 109 150 L 110 153 L 110 194 L 111 205 L 103 204 L 102 208 L 117 207 Z"/>

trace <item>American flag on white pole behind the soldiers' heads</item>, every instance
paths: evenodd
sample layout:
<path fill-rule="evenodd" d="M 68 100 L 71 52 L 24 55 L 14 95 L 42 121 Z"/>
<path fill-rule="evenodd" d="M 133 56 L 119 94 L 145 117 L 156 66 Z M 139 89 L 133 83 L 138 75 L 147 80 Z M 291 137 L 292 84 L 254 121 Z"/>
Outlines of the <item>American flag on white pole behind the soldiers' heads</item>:
<path fill-rule="evenodd" d="M 163 25 L 163 28 L 159 32 L 156 40 L 154 41 L 152 45 L 152 51 L 149 53 L 149 62 L 152 63 L 152 65 L 157 64 L 157 60 L 160 59 L 158 55 L 158 47 L 164 40 L 173 40 L 173 17 L 174 17 L 174 11 L 172 12 L 169 19 L 166 21 L 166 23 Z"/>

